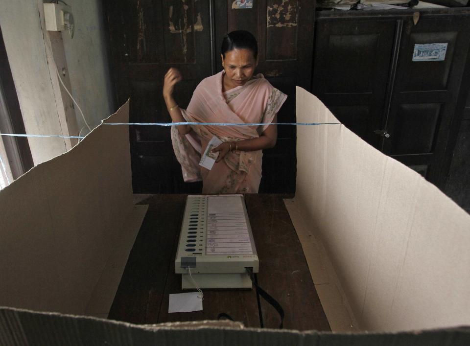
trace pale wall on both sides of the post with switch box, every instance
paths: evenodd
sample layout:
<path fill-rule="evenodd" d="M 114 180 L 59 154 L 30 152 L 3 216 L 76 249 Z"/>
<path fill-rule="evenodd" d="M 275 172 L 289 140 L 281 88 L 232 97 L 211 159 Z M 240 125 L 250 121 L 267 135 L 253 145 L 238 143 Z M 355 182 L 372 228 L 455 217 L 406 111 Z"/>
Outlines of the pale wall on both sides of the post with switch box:
<path fill-rule="evenodd" d="M 58 107 L 62 100 L 51 81 L 44 34 L 42 0 L 1 0 L 0 27 L 24 118 L 26 133 L 63 135 Z M 113 113 L 99 0 L 69 0 L 75 21 L 75 37 L 63 32 L 72 95 L 93 128 Z M 50 63 L 50 62 L 49 62 Z M 53 64 L 50 64 L 53 66 Z M 53 72 L 52 72 L 53 73 Z M 63 106 L 62 106 L 63 107 Z M 75 110 L 80 128 L 84 122 Z M 88 131 L 84 131 L 87 133 Z M 29 138 L 34 164 L 67 150 L 62 138 Z"/>

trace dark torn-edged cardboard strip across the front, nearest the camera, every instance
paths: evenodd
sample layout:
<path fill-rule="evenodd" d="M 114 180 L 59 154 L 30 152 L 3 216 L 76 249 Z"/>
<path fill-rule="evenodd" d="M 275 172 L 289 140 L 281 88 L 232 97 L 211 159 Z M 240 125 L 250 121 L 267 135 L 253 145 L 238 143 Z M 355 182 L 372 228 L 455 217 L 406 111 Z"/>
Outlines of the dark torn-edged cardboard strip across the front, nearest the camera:
<path fill-rule="evenodd" d="M 1 345 L 469 345 L 470 328 L 340 334 L 244 328 L 232 321 L 144 324 L 0 307 Z"/>

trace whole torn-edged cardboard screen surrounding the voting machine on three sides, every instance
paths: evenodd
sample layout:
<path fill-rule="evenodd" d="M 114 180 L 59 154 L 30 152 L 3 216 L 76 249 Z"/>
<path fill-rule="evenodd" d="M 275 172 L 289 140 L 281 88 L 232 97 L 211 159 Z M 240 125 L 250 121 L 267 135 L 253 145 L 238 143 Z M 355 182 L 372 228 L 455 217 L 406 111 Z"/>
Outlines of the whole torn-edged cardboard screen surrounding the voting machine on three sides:
<path fill-rule="evenodd" d="M 104 320 L 146 211 L 128 127 L 105 124 L 128 110 L 0 191 L 1 345 L 470 344 L 470 215 L 341 124 L 297 128 L 285 201 L 332 333 Z M 338 122 L 300 88 L 297 121 Z"/>

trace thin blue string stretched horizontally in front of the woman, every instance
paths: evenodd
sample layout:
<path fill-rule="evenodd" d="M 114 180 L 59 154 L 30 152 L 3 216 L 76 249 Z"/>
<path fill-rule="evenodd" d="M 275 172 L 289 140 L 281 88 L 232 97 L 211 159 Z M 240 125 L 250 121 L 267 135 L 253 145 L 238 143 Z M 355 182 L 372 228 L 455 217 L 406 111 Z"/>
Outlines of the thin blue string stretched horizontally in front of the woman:
<path fill-rule="evenodd" d="M 263 126 L 263 125 L 294 125 L 294 126 L 318 126 L 318 125 L 340 125 L 339 122 L 271 122 L 271 123 L 219 123 L 219 122 L 115 122 L 102 123 L 101 125 L 143 125 L 143 126 L 180 126 L 180 125 L 204 125 L 204 126 Z M 60 135 L 26 135 L 26 134 L 3 134 L 0 136 L 10 137 L 32 137 L 32 138 L 85 138 L 84 136 L 60 136 Z"/>

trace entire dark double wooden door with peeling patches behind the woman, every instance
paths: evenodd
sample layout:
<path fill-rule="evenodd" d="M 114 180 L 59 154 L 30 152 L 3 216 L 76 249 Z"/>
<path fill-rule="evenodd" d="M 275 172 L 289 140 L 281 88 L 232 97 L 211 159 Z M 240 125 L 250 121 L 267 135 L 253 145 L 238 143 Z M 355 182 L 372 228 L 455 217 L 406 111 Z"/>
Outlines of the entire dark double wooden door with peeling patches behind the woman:
<path fill-rule="evenodd" d="M 220 71 L 220 46 L 232 30 L 251 31 L 259 44 L 258 72 L 288 99 L 279 121 L 295 122 L 295 86 L 309 89 L 314 2 L 254 0 L 251 9 L 235 1 L 106 0 L 117 102 L 131 97 L 130 122 L 170 122 L 162 97 L 164 73 L 181 70 L 175 99 L 183 108 L 205 77 Z M 134 192 L 198 192 L 184 184 L 168 127 L 131 126 Z M 265 150 L 260 192 L 294 192 L 295 127 L 279 128 L 274 149 Z"/>

